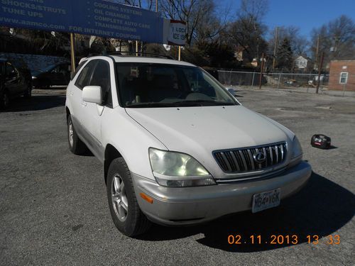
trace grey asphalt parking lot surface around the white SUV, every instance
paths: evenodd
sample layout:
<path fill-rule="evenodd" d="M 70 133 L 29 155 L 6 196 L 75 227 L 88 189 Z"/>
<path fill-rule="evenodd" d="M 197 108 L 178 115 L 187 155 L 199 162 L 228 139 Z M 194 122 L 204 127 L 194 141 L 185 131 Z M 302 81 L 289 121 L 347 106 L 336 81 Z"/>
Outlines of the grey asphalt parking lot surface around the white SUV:
<path fill-rule="evenodd" d="M 298 135 L 310 182 L 275 209 L 202 226 L 153 226 L 135 239 L 111 221 L 99 161 L 68 150 L 65 95 L 40 90 L 31 101 L 13 101 L 0 113 L 0 265 L 354 265 L 355 99 L 236 94 Z M 334 147 L 312 148 L 315 133 Z M 229 235 L 241 235 L 241 244 L 229 245 Z M 251 235 L 263 244 L 251 244 Z M 297 235 L 297 244 L 272 245 L 272 235 Z"/>

